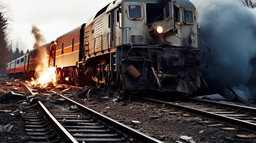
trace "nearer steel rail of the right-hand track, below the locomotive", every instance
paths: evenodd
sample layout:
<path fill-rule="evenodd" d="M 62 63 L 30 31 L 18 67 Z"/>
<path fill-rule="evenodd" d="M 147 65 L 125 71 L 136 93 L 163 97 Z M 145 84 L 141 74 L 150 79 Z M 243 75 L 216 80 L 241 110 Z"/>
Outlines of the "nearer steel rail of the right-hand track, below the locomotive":
<path fill-rule="evenodd" d="M 164 103 L 166 105 L 173 106 L 173 107 L 176 107 L 176 108 L 181 109 L 181 110 L 185 110 L 185 111 L 188 111 L 188 112 L 193 112 L 194 114 L 198 114 L 199 116 L 203 116 L 205 118 L 215 120 L 215 121 L 218 121 L 220 123 L 226 123 L 227 125 L 234 126 L 234 127 L 239 127 L 243 130 L 248 130 L 248 131 L 256 133 L 256 124 L 255 123 L 250 123 L 250 122 L 242 121 L 242 120 L 235 119 L 235 118 L 232 118 L 232 117 L 223 116 L 221 114 L 211 113 L 211 112 L 198 110 L 198 109 L 187 107 L 187 106 L 182 106 L 182 105 L 171 103 L 171 102 L 160 101 L 160 100 L 156 100 L 156 99 L 143 98 L 143 97 L 136 97 L 136 96 L 131 96 L 131 95 L 130 95 L 130 97 L 135 97 L 135 98 L 148 100 L 148 101 L 153 101 L 153 102 L 157 102 L 157 103 Z"/>

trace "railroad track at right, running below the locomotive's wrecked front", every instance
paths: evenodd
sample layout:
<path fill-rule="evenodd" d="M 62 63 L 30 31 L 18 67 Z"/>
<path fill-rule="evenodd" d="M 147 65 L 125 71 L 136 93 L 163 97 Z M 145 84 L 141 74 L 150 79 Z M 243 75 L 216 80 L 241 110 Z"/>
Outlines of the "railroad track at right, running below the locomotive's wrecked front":
<path fill-rule="evenodd" d="M 256 133 L 256 108 L 195 98 L 191 98 L 190 102 L 175 103 L 149 98 L 135 98 L 165 104 L 166 106 L 171 106 L 177 110 L 190 112 L 197 116 Z"/>

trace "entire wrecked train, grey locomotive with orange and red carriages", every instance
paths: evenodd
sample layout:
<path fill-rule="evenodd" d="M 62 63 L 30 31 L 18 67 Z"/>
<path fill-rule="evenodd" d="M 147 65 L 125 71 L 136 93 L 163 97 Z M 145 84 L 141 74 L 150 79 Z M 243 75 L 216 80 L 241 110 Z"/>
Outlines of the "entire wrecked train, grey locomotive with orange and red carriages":
<path fill-rule="evenodd" d="M 204 87 L 197 19 L 189 0 L 113 0 L 43 45 L 46 62 L 59 84 L 193 95 Z M 7 75 L 33 76 L 36 52 L 8 63 Z"/>

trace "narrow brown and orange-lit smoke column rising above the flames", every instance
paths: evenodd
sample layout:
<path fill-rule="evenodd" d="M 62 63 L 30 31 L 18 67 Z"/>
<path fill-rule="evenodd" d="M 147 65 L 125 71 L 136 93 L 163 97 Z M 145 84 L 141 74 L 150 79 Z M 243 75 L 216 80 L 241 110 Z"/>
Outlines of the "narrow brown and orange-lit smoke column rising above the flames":
<path fill-rule="evenodd" d="M 48 60 L 48 51 L 47 46 L 45 44 L 45 37 L 40 33 L 40 29 L 33 25 L 31 27 L 31 34 L 34 35 L 36 42 L 34 43 L 33 49 L 37 48 L 37 55 L 35 56 L 35 60 L 37 62 L 35 77 L 38 79 L 40 75 L 47 72 L 47 68 L 49 66 Z M 42 46 L 43 45 L 43 46 Z"/>

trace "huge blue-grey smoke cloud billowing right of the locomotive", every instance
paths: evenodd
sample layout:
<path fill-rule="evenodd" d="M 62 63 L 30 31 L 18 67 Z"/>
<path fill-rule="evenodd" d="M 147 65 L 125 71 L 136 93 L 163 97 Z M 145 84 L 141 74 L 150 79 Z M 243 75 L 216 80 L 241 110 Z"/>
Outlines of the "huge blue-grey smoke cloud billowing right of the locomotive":
<path fill-rule="evenodd" d="M 225 94 L 233 87 L 247 100 L 256 95 L 256 9 L 239 0 L 191 0 L 197 8 L 200 33 L 211 47 L 204 75 L 209 90 Z"/>

